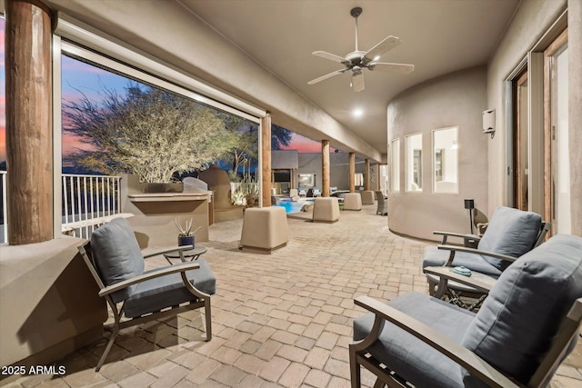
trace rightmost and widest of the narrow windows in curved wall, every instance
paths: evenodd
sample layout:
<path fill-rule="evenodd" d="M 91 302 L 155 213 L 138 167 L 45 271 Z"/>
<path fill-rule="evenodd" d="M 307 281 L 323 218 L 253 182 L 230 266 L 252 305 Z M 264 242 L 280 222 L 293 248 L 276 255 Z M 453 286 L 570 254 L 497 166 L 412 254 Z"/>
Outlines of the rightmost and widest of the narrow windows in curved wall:
<path fill-rule="evenodd" d="M 433 187 L 435 193 L 458 193 L 457 127 L 433 131 Z"/>

